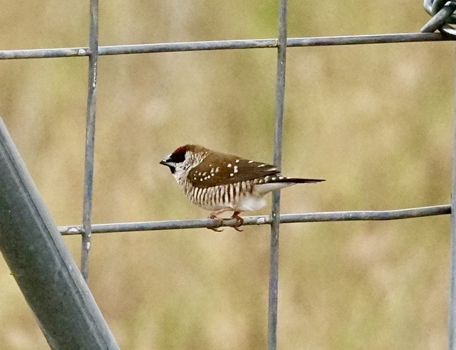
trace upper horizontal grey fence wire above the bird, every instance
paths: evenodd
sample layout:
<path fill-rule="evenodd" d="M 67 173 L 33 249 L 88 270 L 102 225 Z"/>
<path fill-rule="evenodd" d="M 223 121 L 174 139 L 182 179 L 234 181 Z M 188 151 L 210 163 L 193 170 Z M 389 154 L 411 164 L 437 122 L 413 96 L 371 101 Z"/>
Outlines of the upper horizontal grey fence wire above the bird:
<path fill-rule="evenodd" d="M 321 36 L 287 38 L 289 47 L 361 45 L 373 43 L 416 43 L 427 41 L 451 41 L 440 33 L 390 33 L 361 36 Z M 189 41 L 184 43 L 146 43 L 133 45 L 100 46 L 99 55 L 126 55 L 132 53 L 160 53 L 182 51 L 233 50 L 247 48 L 277 48 L 277 39 L 247 39 L 226 41 Z M 0 51 L 0 60 L 24 58 L 80 57 L 90 55 L 88 47 L 38 48 Z"/>

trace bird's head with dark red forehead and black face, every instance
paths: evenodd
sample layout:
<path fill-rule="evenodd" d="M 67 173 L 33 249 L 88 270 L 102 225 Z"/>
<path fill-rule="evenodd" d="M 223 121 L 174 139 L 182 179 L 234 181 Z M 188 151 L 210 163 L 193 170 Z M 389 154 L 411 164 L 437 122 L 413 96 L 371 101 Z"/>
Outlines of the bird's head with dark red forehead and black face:
<path fill-rule="evenodd" d="M 172 154 L 163 158 L 160 164 L 168 166 L 175 179 L 185 178 L 206 157 L 207 149 L 196 144 L 185 144 L 178 147 Z"/>

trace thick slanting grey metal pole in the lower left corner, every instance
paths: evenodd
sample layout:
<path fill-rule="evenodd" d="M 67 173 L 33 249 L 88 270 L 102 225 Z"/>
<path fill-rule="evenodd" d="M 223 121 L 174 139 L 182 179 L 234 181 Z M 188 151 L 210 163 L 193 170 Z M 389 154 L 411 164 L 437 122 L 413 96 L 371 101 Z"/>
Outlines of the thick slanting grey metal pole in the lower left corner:
<path fill-rule="evenodd" d="M 118 349 L 0 119 L 0 250 L 53 349 Z"/>

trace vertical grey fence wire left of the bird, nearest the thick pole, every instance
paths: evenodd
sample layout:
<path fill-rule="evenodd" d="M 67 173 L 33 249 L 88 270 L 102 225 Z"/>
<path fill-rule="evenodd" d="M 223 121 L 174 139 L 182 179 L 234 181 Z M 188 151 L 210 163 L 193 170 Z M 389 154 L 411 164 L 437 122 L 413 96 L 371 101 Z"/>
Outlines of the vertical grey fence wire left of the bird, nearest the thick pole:
<path fill-rule="evenodd" d="M 81 245 L 81 272 L 86 281 L 88 280 L 88 255 L 90 252 L 90 236 L 92 235 L 93 158 L 98 65 L 98 0 L 90 0 L 89 36 L 86 157 L 84 161 L 83 232 Z"/>

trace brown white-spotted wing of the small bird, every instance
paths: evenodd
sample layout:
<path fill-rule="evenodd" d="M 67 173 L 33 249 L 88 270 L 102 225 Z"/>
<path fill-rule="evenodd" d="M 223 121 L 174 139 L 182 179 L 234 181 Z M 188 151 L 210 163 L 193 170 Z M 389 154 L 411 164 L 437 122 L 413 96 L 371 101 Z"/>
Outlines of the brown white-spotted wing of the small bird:
<path fill-rule="evenodd" d="M 214 152 L 190 170 L 187 180 L 191 181 L 193 186 L 205 188 L 274 174 L 279 174 L 274 165 Z"/>

